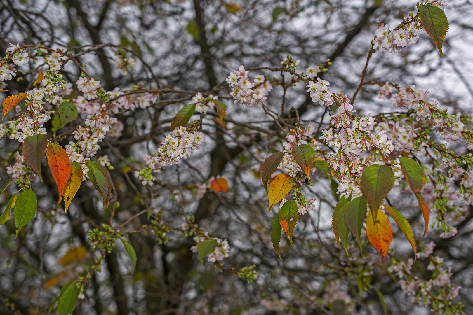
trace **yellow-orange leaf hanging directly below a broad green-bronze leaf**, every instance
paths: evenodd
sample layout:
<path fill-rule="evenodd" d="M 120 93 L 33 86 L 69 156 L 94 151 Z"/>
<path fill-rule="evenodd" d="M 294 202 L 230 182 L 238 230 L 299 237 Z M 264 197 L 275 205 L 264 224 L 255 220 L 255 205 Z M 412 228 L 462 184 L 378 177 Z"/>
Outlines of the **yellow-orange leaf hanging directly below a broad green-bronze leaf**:
<path fill-rule="evenodd" d="M 372 211 L 368 211 L 366 234 L 369 242 L 376 248 L 384 263 L 386 261 L 389 245 L 391 245 L 393 241 L 393 230 L 391 230 L 391 224 L 389 224 L 389 220 L 384 211 L 378 209 L 376 220 L 377 221 L 374 222 Z"/>

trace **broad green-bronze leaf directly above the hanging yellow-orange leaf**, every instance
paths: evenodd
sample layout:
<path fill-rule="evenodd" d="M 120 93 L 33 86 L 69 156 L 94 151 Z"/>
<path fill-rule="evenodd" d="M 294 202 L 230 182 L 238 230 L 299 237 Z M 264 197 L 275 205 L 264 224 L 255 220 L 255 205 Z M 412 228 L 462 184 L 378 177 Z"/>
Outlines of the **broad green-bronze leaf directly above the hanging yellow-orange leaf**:
<path fill-rule="evenodd" d="M 359 187 L 368 199 L 369 208 L 376 219 L 381 201 L 394 186 L 394 174 L 389 166 L 373 164 L 361 175 Z"/>

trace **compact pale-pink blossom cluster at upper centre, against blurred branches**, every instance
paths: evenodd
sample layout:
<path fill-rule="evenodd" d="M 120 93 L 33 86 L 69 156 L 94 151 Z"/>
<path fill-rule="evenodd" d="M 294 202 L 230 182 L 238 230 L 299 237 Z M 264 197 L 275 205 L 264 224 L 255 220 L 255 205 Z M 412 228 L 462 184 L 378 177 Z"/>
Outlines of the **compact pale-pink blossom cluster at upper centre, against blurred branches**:
<path fill-rule="evenodd" d="M 266 95 L 272 90 L 272 85 L 269 80 L 265 81 L 264 76 L 256 75 L 253 82 L 248 77 L 248 70 L 240 66 L 238 71 L 234 71 L 226 79 L 227 83 L 232 88 L 230 93 L 236 102 L 240 102 L 246 107 L 253 107 L 254 105 L 263 107 L 263 101 L 267 99 Z"/>

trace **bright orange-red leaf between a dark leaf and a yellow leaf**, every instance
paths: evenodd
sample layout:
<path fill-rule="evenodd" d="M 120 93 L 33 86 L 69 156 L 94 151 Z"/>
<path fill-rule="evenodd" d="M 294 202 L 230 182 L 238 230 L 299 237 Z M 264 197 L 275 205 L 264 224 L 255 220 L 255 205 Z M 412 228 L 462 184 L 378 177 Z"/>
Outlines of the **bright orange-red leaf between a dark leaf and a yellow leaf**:
<path fill-rule="evenodd" d="M 49 168 L 51 169 L 54 181 L 56 181 L 59 196 L 61 198 L 72 170 L 69 156 L 61 145 L 56 145 L 54 143 L 48 143 L 47 156 Z"/>

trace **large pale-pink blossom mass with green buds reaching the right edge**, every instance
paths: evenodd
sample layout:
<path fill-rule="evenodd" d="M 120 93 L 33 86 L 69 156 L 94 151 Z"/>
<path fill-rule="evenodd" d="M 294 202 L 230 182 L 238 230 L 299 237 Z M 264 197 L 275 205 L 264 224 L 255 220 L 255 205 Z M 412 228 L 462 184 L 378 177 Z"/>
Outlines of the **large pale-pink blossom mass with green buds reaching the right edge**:
<path fill-rule="evenodd" d="M 391 93 L 391 104 L 406 108 L 411 114 L 384 117 L 377 128 L 385 131 L 394 145 L 394 151 L 430 155 L 432 165 L 431 168 L 424 168 L 427 183 L 422 194 L 429 208 L 437 212 L 434 225 L 442 230 L 440 236 L 454 236 L 457 230 L 450 226 L 447 218 L 453 223 L 462 221 L 468 213 L 467 206 L 473 204 L 473 181 L 470 179 L 473 172 L 468 171 L 471 166 L 468 170 L 462 166 L 472 164 L 473 160 L 471 154 L 456 156 L 447 150 L 447 145 L 465 140 L 465 145 L 473 149 L 472 134 L 467 130 L 472 126 L 472 115 L 449 115 L 446 108 L 438 109 L 437 102 L 429 99 L 428 91 L 417 89 L 415 85 L 398 88 L 386 82 L 380 87 L 378 97 L 383 99 Z M 431 134 L 443 143 L 432 143 Z M 461 184 L 458 190 L 453 186 L 455 180 Z"/>

